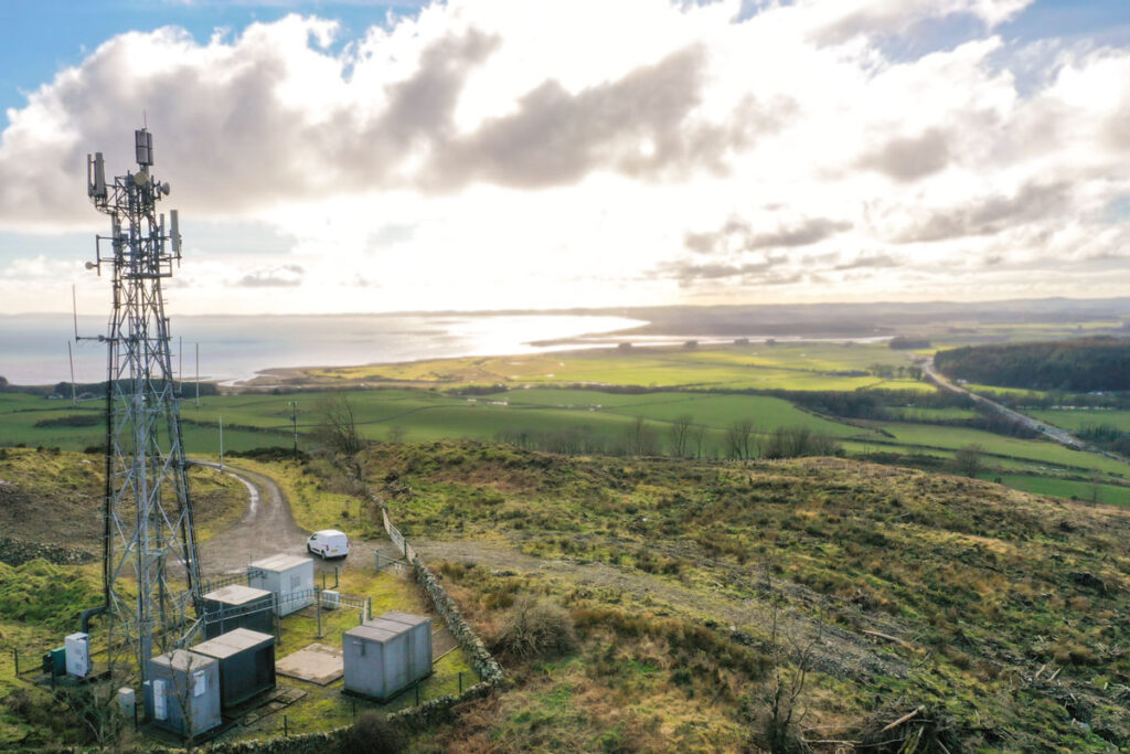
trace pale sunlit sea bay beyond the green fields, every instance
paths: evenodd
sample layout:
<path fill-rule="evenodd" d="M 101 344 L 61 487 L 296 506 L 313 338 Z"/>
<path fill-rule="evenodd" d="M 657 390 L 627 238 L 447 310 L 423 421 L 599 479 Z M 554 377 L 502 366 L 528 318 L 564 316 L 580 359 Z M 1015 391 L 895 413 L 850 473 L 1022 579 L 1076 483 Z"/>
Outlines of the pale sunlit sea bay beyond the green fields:
<path fill-rule="evenodd" d="M 171 323 L 173 370 L 233 383 L 269 369 L 351 366 L 423 358 L 531 354 L 609 345 L 645 321 L 571 314 L 181 315 Z M 76 331 L 79 340 L 75 340 Z M 105 318 L 0 315 L 0 376 L 12 384 L 106 379 Z M 605 336 L 605 338 L 601 338 Z M 567 346 L 544 341 L 571 340 Z M 70 341 L 71 354 L 68 354 Z"/>

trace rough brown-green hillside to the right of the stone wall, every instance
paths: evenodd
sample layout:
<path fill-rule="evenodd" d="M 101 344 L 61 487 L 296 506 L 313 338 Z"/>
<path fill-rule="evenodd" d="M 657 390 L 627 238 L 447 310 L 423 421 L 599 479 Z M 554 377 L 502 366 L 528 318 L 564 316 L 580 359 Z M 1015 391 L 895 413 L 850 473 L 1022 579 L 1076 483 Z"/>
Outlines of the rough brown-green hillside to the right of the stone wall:
<path fill-rule="evenodd" d="M 801 673 L 791 729 L 810 742 L 1130 744 L 1121 510 L 837 459 L 432 443 L 363 466 L 485 635 L 523 595 L 579 635 L 562 657 L 506 658 L 515 687 L 421 735 L 425 751 L 760 746 L 766 700 Z"/>

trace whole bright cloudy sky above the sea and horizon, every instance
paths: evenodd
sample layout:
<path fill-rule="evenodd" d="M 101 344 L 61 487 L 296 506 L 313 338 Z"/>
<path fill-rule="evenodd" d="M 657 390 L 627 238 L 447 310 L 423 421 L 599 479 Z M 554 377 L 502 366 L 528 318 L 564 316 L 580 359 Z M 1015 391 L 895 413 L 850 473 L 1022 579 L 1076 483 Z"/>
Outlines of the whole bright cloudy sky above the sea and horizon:
<path fill-rule="evenodd" d="M 1124 0 L 0 0 L 0 313 L 101 312 L 86 156 L 176 313 L 1106 297 Z"/>

